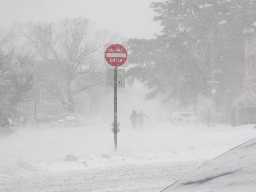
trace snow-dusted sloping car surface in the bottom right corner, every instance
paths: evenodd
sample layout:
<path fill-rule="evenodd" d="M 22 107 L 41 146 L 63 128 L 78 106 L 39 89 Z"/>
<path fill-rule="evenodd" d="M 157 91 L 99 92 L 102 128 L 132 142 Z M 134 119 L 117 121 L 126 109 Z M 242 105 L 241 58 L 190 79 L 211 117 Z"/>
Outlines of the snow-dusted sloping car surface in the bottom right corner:
<path fill-rule="evenodd" d="M 163 192 L 256 191 L 256 138 L 227 151 Z"/>

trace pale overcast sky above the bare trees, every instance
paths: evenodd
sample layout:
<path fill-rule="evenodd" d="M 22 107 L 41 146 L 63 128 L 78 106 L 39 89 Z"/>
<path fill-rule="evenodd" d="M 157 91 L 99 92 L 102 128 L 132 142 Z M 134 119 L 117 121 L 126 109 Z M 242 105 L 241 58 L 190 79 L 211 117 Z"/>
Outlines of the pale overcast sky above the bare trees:
<path fill-rule="evenodd" d="M 0 26 L 85 17 L 127 38 L 149 39 L 161 30 L 149 8 L 150 2 L 159 1 L 163 0 L 0 0 Z"/>

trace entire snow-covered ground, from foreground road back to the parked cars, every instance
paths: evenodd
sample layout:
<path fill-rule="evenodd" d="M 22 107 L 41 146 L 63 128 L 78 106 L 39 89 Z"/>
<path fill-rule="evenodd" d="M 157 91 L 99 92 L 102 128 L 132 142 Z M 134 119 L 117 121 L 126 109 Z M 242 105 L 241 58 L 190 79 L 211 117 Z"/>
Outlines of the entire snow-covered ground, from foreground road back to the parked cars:
<path fill-rule="evenodd" d="M 30 130 L 0 139 L 0 191 L 161 191 L 207 161 L 256 137 L 253 125 L 174 126 L 151 120 L 143 131 L 112 122 Z M 65 161 L 66 155 L 77 161 Z"/>

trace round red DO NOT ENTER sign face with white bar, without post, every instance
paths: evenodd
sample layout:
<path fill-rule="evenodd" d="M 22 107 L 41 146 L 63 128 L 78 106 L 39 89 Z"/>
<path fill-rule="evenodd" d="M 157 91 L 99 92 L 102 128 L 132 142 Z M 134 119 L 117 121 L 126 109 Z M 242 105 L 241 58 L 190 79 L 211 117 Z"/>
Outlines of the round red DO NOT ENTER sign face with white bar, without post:
<path fill-rule="evenodd" d="M 119 44 L 110 45 L 105 51 L 105 59 L 113 67 L 123 65 L 127 60 L 127 55 L 125 47 Z"/>

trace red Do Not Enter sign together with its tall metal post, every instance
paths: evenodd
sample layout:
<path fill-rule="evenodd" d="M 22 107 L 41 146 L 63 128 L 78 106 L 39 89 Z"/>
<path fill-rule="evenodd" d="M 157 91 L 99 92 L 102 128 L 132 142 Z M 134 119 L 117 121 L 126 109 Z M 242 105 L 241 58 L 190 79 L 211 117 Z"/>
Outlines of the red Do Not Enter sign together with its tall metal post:
<path fill-rule="evenodd" d="M 113 132 L 114 132 L 114 145 L 117 151 L 117 67 L 122 66 L 127 60 L 127 51 L 124 46 L 119 44 L 113 44 L 106 47 L 105 50 L 105 61 L 109 65 L 115 67 L 114 69 L 114 122 L 113 122 Z"/>

